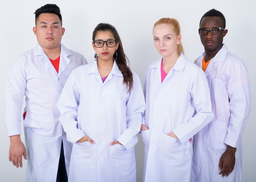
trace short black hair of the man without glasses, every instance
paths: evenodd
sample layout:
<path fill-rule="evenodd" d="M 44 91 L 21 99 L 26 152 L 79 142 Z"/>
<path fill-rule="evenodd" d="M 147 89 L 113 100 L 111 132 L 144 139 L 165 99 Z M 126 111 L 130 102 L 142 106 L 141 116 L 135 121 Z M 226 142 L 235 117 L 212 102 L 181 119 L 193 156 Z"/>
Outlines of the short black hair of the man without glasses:
<path fill-rule="evenodd" d="M 38 8 L 35 11 L 36 19 L 35 22 L 37 22 L 39 15 L 41 13 L 53 13 L 58 16 L 58 18 L 61 20 L 61 25 L 62 25 L 62 17 L 61 17 L 61 10 L 56 4 L 45 4 L 44 6 Z"/>

